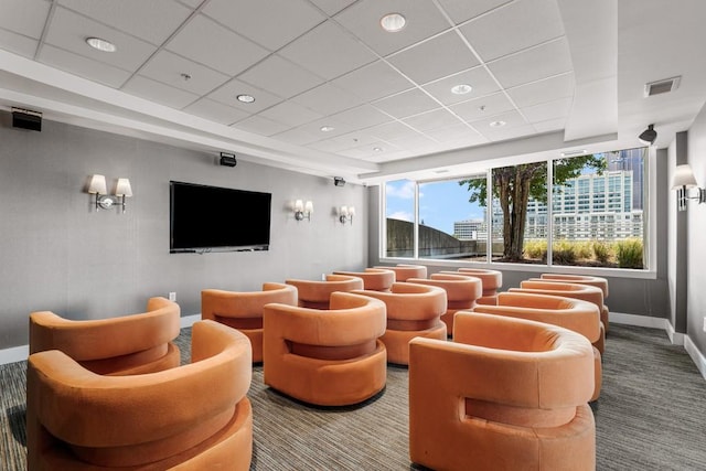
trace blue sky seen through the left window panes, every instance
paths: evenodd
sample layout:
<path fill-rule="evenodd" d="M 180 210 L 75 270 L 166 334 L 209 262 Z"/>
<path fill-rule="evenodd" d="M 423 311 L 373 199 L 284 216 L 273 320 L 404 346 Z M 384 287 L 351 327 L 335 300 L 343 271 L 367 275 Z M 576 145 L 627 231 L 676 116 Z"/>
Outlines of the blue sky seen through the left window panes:
<path fill-rule="evenodd" d="M 386 185 L 386 216 L 414 221 L 415 183 L 407 180 Z M 464 220 L 482 220 L 484 208 L 469 203 L 469 191 L 456 181 L 422 183 L 419 188 L 419 218 L 427 226 L 453 234 L 453 223 Z"/>

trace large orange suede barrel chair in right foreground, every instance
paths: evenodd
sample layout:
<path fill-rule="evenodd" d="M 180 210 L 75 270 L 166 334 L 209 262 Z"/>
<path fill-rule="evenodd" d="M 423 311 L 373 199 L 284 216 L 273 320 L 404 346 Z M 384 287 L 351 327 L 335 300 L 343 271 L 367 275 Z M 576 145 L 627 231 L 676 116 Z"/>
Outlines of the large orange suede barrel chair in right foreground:
<path fill-rule="evenodd" d="M 454 342 L 409 344 L 410 459 L 451 471 L 593 471 L 592 393 L 584 335 L 459 312 Z"/>

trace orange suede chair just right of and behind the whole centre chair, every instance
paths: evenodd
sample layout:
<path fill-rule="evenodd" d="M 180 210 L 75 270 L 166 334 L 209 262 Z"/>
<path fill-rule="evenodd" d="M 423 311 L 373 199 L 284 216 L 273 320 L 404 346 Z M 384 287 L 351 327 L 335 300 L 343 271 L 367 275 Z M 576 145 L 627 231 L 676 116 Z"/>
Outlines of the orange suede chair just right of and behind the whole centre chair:
<path fill-rule="evenodd" d="M 441 314 L 446 312 L 446 290 L 436 286 L 395 282 L 389 292 L 353 291 L 377 298 L 387 307 L 387 329 L 381 338 L 387 362 L 409 364 L 409 341 L 415 336 L 447 339 Z"/>

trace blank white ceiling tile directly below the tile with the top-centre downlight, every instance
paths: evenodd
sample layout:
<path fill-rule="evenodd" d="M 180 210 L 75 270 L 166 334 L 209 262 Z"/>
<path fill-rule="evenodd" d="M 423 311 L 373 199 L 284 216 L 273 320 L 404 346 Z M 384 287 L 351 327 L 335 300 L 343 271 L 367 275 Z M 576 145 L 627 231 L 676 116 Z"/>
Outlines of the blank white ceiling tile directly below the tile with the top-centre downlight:
<path fill-rule="evenodd" d="M 414 86 L 404 75 L 397 73 L 384 61 L 374 62 L 345 74 L 333 81 L 333 84 L 370 101 L 407 90 Z"/>

